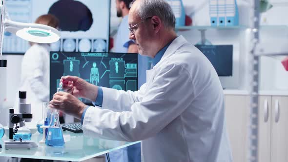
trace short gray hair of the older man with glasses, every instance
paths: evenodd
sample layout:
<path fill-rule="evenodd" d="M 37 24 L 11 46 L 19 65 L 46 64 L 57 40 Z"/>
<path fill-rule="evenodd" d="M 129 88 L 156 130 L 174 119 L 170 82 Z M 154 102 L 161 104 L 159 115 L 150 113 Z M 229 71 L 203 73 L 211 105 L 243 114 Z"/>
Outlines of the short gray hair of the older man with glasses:
<path fill-rule="evenodd" d="M 134 2 L 135 0 L 130 3 L 130 7 Z M 158 16 L 163 21 L 165 27 L 172 27 L 175 29 L 175 15 L 171 6 L 165 0 L 141 0 L 137 14 L 141 20 L 152 16 Z"/>

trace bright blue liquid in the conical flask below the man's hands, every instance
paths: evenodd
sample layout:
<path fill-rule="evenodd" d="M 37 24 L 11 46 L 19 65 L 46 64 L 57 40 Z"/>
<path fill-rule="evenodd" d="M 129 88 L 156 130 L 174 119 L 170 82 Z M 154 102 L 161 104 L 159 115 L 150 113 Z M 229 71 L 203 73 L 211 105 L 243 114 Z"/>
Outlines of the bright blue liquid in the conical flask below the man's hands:
<path fill-rule="evenodd" d="M 45 144 L 53 147 L 60 147 L 64 145 L 62 128 L 50 127 L 46 136 Z"/>

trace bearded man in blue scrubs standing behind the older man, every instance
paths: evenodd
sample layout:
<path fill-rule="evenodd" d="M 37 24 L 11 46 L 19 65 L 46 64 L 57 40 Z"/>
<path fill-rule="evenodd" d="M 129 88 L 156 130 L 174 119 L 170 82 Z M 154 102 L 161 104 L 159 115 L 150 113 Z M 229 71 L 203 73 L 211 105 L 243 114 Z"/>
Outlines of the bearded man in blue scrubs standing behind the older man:
<path fill-rule="evenodd" d="M 133 0 L 116 0 L 117 17 L 122 17 L 122 21 L 118 27 L 114 42 L 114 52 L 138 53 L 137 45 L 134 41 L 129 39 L 130 31 L 128 29 L 128 14 L 130 10 L 129 4 L 132 1 Z M 145 59 L 147 59 L 147 57 L 141 57 L 139 58 L 138 62 L 141 64 L 143 64 L 142 62 L 146 62 L 146 64 L 148 64 L 148 61 L 145 61 Z M 147 69 L 144 68 L 139 71 L 141 73 L 139 73 L 139 87 L 146 82 L 146 70 Z M 144 77 L 142 77 L 143 75 Z M 109 155 L 111 162 L 141 162 L 141 144 L 137 143 L 119 150 L 115 150 L 109 153 Z"/>

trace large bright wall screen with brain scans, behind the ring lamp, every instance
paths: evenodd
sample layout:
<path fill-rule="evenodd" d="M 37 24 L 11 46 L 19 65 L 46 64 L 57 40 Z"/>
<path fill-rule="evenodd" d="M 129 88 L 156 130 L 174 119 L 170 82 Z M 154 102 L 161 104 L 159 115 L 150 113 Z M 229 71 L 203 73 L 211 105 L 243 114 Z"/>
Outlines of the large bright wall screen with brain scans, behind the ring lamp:
<path fill-rule="evenodd" d="M 61 39 L 51 51 L 107 52 L 110 0 L 5 0 L 11 20 L 34 23 L 44 14 L 59 19 Z M 100 5 L 101 4 L 101 5 Z M 25 53 L 29 42 L 4 32 L 3 53 Z"/>

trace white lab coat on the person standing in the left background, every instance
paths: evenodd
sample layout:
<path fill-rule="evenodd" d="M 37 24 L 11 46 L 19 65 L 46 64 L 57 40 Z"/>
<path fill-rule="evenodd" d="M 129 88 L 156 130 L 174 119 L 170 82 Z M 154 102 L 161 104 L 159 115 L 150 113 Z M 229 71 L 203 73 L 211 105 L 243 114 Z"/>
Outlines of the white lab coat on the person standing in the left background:
<path fill-rule="evenodd" d="M 21 64 L 19 90 L 27 92 L 27 102 L 31 102 L 32 123 L 42 118 L 42 102 L 49 101 L 49 52 L 48 44 L 34 44 L 24 54 Z M 19 110 L 17 99 L 14 107 Z M 18 112 L 18 111 L 17 111 Z"/>

